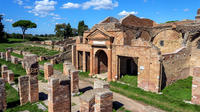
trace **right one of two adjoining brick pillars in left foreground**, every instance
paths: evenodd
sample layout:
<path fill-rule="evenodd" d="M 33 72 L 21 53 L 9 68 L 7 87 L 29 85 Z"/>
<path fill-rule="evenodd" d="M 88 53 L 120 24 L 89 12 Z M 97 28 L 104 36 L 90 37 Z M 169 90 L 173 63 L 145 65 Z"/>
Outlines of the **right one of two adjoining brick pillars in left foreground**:
<path fill-rule="evenodd" d="M 29 101 L 39 101 L 39 87 L 37 76 L 29 76 Z"/>

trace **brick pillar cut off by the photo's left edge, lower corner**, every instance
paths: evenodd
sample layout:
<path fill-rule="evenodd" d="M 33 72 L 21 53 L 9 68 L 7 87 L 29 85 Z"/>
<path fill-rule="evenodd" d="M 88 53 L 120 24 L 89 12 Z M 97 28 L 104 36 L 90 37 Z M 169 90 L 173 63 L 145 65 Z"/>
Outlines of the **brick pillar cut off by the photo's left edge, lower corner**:
<path fill-rule="evenodd" d="M 5 81 L 0 78 L 0 111 L 3 112 L 6 110 L 6 89 L 5 89 Z"/>

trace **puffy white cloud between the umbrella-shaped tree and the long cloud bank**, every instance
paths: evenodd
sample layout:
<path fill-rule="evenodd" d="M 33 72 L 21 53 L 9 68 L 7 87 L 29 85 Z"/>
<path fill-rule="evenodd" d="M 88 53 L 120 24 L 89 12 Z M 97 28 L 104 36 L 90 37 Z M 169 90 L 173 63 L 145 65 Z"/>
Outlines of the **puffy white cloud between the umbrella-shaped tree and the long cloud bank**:
<path fill-rule="evenodd" d="M 35 7 L 28 11 L 29 13 L 33 13 L 35 16 L 46 17 L 48 15 L 55 16 L 54 13 L 50 13 L 55 10 L 56 1 L 42 0 L 35 1 Z"/>

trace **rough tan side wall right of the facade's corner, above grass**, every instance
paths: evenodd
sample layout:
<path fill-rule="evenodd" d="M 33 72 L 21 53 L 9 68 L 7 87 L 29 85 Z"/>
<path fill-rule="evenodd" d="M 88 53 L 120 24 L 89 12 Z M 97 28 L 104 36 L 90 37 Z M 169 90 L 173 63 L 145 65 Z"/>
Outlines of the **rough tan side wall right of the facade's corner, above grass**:
<path fill-rule="evenodd" d="M 166 85 L 189 76 L 190 55 L 190 47 L 182 48 L 176 53 L 163 55 L 162 77 L 166 81 Z"/>

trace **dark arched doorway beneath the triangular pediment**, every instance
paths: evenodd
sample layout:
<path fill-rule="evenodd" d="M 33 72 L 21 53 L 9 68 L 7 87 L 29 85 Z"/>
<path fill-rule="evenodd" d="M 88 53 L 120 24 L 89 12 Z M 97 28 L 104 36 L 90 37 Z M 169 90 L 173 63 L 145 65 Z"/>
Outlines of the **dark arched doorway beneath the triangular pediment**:
<path fill-rule="evenodd" d="M 95 72 L 96 74 L 108 72 L 108 57 L 103 50 L 99 50 L 95 54 Z"/>

